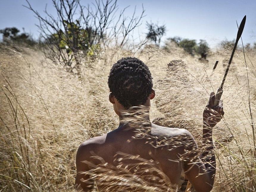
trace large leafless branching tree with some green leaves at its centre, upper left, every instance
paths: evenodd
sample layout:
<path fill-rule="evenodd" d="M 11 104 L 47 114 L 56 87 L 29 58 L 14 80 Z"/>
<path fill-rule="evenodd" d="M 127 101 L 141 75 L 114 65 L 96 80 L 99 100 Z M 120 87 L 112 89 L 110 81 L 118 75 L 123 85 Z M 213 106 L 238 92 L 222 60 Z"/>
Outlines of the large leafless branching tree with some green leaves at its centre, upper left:
<path fill-rule="evenodd" d="M 81 55 L 93 55 L 94 51 L 111 43 L 124 47 L 131 32 L 141 25 L 145 10 L 136 16 L 136 7 L 132 16 L 125 16 L 123 10 L 117 14 L 117 0 L 95 0 L 90 6 L 84 6 L 80 0 L 52 0 L 57 18 L 47 12 L 43 17 L 33 9 L 29 1 L 24 6 L 35 13 L 37 25 L 47 45 L 47 57 L 80 73 Z M 74 63 L 75 62 L 75 63 Z"/>

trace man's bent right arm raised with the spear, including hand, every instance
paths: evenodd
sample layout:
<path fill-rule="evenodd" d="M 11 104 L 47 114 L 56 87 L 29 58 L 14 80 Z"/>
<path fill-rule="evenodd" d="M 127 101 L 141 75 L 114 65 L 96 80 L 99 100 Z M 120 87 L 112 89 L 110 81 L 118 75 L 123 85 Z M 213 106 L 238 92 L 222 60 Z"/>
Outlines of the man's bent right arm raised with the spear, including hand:
<path fill-rule="evenodd" d="M 184 172 L 196 191 L 211 191 L 216 173 L 212 129 L 221 120 L 224 111 L 222 101 L 218 106 L 213 106 L 214 99 L 215 94 L 212 92 L 203 113 L 201 154 L 196 150 L 197 146 L 192 136 L 185 154 Z"/>

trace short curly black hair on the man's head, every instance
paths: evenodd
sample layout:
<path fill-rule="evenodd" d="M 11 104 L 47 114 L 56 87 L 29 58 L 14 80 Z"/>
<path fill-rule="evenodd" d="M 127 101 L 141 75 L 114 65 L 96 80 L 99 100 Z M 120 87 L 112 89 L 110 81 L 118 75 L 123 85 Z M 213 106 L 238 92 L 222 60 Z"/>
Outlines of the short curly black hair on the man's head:
<path fill-rule="evenodd" d="M 126 109 L 145 104 L 153 87 L 148 66 L 135 57 L 118 60 L 110 70 L 107 84 Z"/>

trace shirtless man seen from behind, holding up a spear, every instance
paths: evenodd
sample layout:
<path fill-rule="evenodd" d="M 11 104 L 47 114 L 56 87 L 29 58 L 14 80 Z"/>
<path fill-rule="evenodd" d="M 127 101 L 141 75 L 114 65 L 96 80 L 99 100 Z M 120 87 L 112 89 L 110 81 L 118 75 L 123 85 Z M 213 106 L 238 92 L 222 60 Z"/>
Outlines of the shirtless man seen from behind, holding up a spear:
<path fill-rule="evenodd" d="M 214 107 L 215 95 L 210 94 L 203 113 L 200 154 L 186 129 L 150 122 L 155 91 L 149 68 L 141 60 L 118 60 L 110 70 L 108 85 L 109 101 L 120 124 L 79 146 L 76 187 L 84 191 L 93 187 L 99 191 L 177 191 L 183 170 L 196 191 L 210 191 L 216 171 L 212 128 L 224 115 L 222 101 Z"/>

